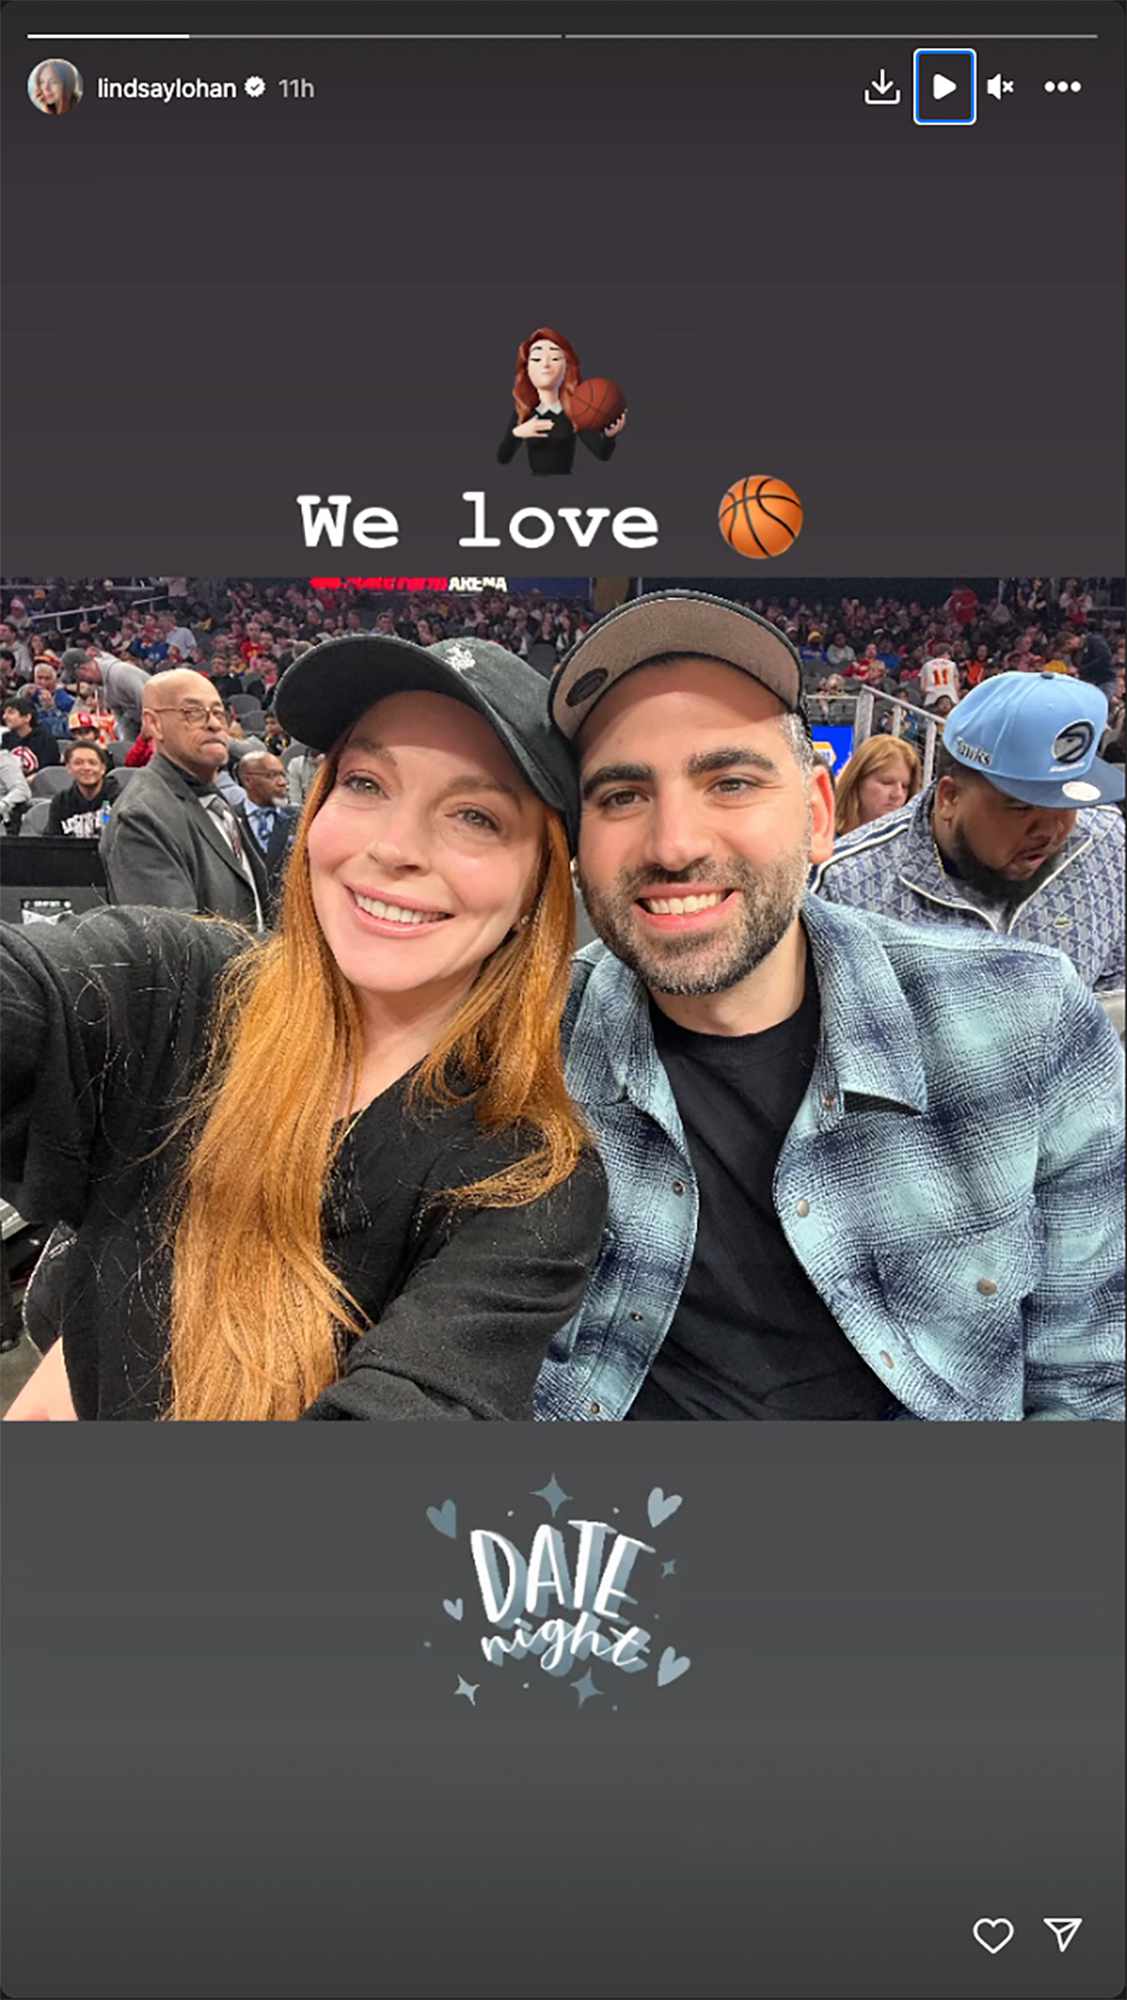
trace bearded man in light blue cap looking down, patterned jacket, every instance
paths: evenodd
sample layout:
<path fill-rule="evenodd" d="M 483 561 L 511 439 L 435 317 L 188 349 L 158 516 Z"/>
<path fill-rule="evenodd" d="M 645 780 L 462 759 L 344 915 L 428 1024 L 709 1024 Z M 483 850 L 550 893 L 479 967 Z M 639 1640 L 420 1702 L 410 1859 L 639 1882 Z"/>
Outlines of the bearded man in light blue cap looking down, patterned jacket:
<path fill-rule="evenodd" d="M 841 840 L 831 902 L 1053 944 L 1097 992 L 1123 986 L 1123 768 L 1107 696 L 1065 674 L 997 674 L 947 716 L 935 782 Z"/>

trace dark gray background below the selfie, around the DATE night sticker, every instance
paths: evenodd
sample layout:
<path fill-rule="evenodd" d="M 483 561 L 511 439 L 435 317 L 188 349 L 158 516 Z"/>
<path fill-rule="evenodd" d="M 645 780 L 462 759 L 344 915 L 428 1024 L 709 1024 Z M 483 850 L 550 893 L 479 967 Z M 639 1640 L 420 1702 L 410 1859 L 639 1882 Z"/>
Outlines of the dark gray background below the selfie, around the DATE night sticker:
<path fill-rule="evenodd" d="M 1113 1996 L 1121 1462 L 1105 1424 L 12 1426 L 4 1992 Z M 631 1580 L 673 1686 L 595 1666 L 579 1712 L 480 1658 L 468 1532 L 528 1550 L 552 1472 L 677 1560 Z"/>

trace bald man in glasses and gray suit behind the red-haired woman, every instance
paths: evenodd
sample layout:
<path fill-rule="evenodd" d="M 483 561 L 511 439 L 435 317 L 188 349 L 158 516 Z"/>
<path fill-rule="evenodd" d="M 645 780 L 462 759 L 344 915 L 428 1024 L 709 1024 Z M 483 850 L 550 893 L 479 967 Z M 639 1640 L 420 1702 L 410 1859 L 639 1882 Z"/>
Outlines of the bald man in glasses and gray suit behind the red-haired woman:
<path fill-rule="evenodd" d="M 228 916 L 262 930 L 266 866 L 216 788 L 230 732 L 212 682 L 190 668 L 154 674 L 144 724 L 154 754 L 102 832 L 110 900 Z"/>

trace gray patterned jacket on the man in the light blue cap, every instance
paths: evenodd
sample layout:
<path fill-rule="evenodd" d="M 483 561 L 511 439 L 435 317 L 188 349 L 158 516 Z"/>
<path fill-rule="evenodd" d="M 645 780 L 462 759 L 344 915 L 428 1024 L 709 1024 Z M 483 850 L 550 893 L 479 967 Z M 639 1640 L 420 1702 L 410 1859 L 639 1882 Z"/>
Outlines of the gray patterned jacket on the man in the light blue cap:
<path fill-rule="evenodd" d="M 1005 920 L 997 904 L 945 872 L 931 834 L 933 796 L 929 786 L 897 812 L 845 834 L 817 870 L 813 890 L 911 924 L 1055 944 L 1089 986 L 1123 986 L 1123 814 L 1115 806 L 1077 812 L 1049 880 Z"/>

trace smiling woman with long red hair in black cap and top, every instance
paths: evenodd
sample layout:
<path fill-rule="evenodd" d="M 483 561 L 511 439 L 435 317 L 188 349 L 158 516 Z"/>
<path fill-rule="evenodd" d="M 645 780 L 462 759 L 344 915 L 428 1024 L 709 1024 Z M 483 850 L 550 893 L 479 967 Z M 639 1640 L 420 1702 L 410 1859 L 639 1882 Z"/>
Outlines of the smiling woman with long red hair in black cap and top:
<path fill-rule="evenodd" d="M 76 1232 L 44 1370 L 80 1418 L 528 1418 L 605 1216 L 571 758 L 484 640 L 326 642 L 276 712 L 326 756 L 270 940 L 6 926 L 2 1188 Z"/>

